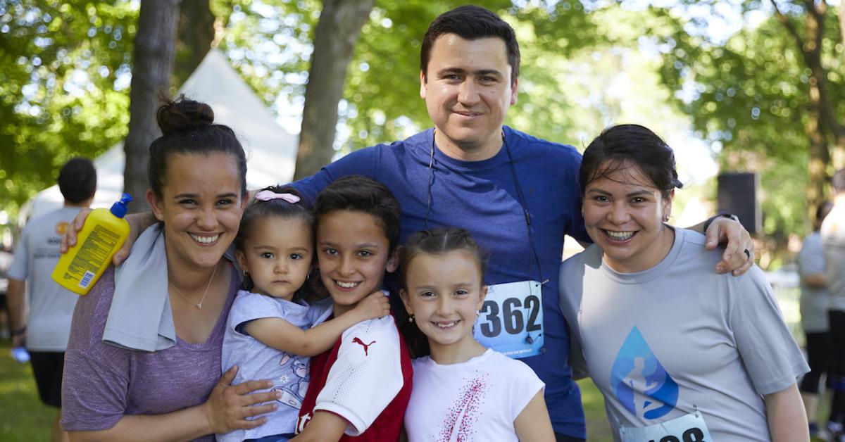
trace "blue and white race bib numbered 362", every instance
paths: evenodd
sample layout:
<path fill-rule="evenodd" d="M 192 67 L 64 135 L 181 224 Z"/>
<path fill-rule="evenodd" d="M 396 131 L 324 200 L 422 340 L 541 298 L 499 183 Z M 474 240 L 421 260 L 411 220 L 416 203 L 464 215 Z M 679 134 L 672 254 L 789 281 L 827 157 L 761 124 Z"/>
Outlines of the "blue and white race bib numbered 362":
<path fill-rule="evenodd" d="M 475 338 L 482 346 L 509 357 L 540 354 L 544 338 L 540 283 L 517 281 L 488 286 L 476 320 Z"/>

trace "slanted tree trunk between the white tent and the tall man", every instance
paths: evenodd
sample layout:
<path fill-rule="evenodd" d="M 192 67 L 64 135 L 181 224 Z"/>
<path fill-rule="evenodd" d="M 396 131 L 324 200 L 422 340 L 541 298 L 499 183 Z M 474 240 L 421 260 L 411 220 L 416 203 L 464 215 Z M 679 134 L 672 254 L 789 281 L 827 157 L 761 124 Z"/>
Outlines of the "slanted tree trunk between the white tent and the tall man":
<path fill-rule="evenodd" d="M 374 0 L 324 0 L 305 89 L 294 179 L 308 177 L 335 154 L 337 103 L 343 96 L 346 68 Z"/>

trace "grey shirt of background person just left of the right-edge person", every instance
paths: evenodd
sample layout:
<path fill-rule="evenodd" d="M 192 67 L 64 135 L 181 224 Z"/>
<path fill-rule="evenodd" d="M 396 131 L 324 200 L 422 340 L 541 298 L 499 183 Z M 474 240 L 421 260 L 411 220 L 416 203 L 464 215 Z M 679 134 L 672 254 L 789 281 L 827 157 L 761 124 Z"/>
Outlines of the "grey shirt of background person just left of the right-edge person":
<path fill-rule="evenodd" d="M 830 297 L 826 288 L 811 287 L 804 283 L 804 276 L 825 274 L 825 248 L 819 232 L 810 233 L 798 254 L 801 275 L 801 326 L 805 333 L 823 333 L 829 327 L 827 307 Z"/>

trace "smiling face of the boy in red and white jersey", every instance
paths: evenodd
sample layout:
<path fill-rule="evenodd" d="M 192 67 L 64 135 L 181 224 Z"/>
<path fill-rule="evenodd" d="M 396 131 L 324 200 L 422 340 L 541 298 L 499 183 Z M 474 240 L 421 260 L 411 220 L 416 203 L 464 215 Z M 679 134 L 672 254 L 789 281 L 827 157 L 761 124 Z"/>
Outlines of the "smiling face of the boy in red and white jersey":
<path fill-rule="evenodd" d="M 368 213 L 335 210 L 320 217 L 317 259 L 335 316 L 381 288 L 384 270 L 396 270 L 395 254 L 378 221 Z"/>

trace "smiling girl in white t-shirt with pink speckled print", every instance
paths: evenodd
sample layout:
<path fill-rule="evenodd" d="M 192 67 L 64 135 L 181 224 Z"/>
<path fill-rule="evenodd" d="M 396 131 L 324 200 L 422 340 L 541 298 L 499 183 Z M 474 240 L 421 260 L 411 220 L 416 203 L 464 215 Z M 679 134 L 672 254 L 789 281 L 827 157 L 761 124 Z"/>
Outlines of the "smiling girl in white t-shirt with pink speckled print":
<path fill-rule="evenodd" d="M 402 249 L 401 276 L 409 320 L 428 338 L 413 360 L 408 439 L 553 441 L 542 381 L 472 336 L 487 286 L 470 233 L 414 233 Z"/>

